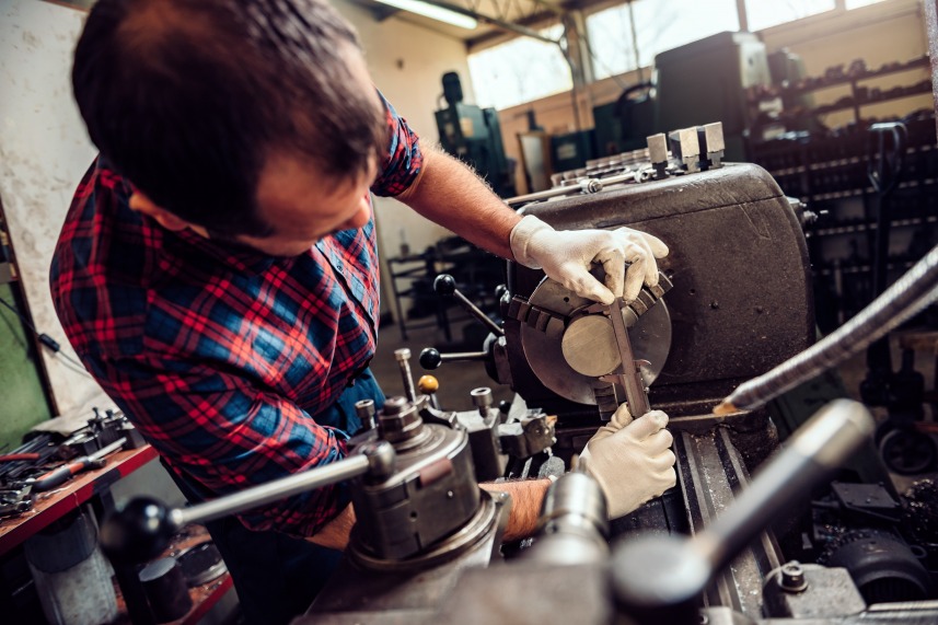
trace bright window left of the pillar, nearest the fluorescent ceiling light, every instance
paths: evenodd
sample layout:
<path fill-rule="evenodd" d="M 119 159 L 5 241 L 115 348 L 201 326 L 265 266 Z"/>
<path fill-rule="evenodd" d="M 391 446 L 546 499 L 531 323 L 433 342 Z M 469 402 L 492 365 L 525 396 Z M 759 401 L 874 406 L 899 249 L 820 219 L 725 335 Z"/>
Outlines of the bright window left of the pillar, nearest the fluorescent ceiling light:
<path fill-rule="evenodd" d="M 557 24 L 541 34 L 557 39 L 564 26 Z M 531 37 L 472 54 L 468 66 L 476 104 L 482 107 L 508 108 L 574 88 L 559 46 Z"/>

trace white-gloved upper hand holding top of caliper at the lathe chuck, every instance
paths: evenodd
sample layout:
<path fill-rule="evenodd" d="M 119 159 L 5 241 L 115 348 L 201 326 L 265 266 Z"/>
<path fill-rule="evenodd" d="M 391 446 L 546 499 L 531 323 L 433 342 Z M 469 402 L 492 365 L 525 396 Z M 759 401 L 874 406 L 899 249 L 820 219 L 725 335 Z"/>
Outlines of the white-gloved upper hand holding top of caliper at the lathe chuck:
<path fill-rule="evenodd" d="M 638 297 L 642 281 L 658 283 L 656 258 L 668 255 L 661 240 L 633 230 L 556 231 L 533 215 L 525 215 L 510 236 L 514 259 L 532 269 L 544 269 L 553 278 L 582 298 L 611 304 L 617 297 L 630 302 Z M 625 270 L 625 263 L 632 265 Z M 602 263 L 605 286 L 590 275 L 590 264 Z"/>

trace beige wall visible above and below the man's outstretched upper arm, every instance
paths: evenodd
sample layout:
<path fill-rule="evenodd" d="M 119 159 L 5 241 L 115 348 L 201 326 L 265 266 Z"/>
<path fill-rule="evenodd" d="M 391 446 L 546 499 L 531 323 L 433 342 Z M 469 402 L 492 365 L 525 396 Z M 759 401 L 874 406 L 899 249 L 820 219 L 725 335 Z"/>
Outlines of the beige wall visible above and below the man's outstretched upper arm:
<path fill-rule="evenodd" d="M 474 102 L 465 44 L 393 16 L 377 22 L 371 12 L 347 0 L 333 3 L 358 30 L 374 83 L 425 144 L 437 144 L 439 134 L 433 112 L 443 92 L 442 76 L 448 71 L 459 72 L 466 101 Z M 402 238 L 412 252 L 421 252 L 451 235 L 447 229 L 390 198 L 375 198 L 375 216 L 381 270 L 385 277 L 390 276 L 386 258 L 399 253 Z M 381 294 L 382 311 L 392 310 L 389 279 L 382 280 Z"/>

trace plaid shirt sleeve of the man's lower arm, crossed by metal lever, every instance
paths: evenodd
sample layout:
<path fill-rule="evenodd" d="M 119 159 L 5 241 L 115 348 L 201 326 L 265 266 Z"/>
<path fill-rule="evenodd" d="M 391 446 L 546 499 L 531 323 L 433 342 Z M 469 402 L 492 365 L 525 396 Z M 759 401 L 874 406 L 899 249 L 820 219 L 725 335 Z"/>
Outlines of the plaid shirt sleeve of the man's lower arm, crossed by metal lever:
<path fill-rule="evenodd" d="M 184 482 L 205 497 L 266 484 L 346 454 L 345 435 L 285 397 L 206 363 L 85 357 L 104 391 Z M 348 486 L 308 490 L 239 514 L 251 530 L 319 532 L 350 501 Z"/>

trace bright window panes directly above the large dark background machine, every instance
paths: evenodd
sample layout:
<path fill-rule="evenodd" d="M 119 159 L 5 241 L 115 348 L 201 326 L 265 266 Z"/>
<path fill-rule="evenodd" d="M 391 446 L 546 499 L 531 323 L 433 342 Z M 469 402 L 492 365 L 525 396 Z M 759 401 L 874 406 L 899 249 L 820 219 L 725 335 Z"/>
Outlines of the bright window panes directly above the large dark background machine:
<path fill-rule="evenodd" d="M 628 7 L 587 18 L 587 36 L 597 79 L 652 65 L 655 56 L 716 33 L 739 31 L 736 0 L 636 0 L 632 4 L 638 55 L 632 42 Z"/>

